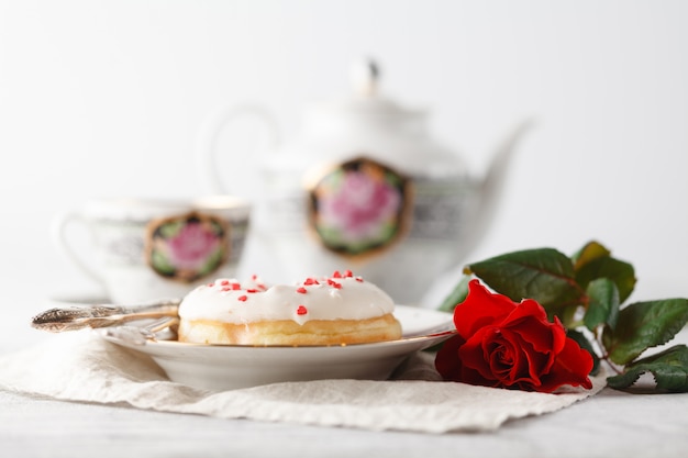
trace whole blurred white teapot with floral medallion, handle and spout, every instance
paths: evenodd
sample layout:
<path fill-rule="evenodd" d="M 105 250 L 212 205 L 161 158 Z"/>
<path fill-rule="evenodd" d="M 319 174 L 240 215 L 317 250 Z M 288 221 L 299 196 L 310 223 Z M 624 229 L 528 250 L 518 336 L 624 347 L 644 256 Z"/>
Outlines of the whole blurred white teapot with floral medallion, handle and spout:
<path fill-rule="evenodd" d="M 418 304 L 485 233 L 526 123 L 475 178 L 458 154 L 429 136 L 424 112 L 379 94 L 375 64 L 354 67 L 352 76 L 354 96 L 308 107 L 295 142 L 278 145 L 264 108 L 234 107 L 203 127 L 199 154 L 213 191 L 230 192 L 218 172 L 218 136 L 241 116 L 264 121 L 264 192 L 252 231 L 280 281 L 348 269 L 397 303 Z"/>

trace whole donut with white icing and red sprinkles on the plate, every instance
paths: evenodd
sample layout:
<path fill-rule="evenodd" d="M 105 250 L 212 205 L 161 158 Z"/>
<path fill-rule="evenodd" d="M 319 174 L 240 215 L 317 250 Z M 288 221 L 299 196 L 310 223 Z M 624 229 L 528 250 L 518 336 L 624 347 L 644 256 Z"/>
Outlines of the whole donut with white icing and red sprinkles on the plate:
<path fill-rule="evenodd" d="M 347 345 L 401 337 L 391 298 L 351 271 L 267 288 L 257 277 L 218 279 L 179 305 L 179 342 Z"/>

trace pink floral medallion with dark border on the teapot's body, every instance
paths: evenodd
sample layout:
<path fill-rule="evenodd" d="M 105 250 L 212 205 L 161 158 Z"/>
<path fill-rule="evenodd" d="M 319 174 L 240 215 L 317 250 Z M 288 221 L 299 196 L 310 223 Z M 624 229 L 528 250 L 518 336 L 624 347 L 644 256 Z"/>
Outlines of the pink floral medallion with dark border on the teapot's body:
<path fill-rule="evenodd" d="M 359 258 L 381 253 L 406 233 L 411 183 L 367 158 L 345 161 L 310 189 L 309 220 L 323 246 Z"/>

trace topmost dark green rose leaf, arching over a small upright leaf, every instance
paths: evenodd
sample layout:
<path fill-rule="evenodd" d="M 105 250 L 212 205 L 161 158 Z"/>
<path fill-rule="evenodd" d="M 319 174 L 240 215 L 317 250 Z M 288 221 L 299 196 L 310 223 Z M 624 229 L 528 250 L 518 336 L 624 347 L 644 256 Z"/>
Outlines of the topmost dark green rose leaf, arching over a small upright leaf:
<path fill-rule="evenodd" d="M 601 256 L 601 253 L 598 253 L 596 257 L 587 258 L 584 264 L 580 264 L 579 258 L 576 269 L 576 282 L 581 288 L 587 288 L 591 281 L 598 278 L 609 278 L 617 284 L 621 303 L 631 295 L 636 282 L 635 269 L 629 262 L 609 256 Z"/>

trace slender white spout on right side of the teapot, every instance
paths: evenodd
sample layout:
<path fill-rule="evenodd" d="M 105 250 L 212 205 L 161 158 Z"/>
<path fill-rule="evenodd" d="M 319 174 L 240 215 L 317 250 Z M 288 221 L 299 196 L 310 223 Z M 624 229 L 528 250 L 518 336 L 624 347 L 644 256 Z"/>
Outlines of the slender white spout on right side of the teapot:
<path fill-rule="evenodd" d="M 474 214 L 475 219 L 470 225 L 471 231 L 466 237 L 468 243 L 465 245 L 470 247 L 469 249 L 474 248 L 488 231 L 489 224 L 492 222 L 497 209 L 499 208 L 514 152 L 533 125 L 533 120 L 528 119 L 520 122 L 511 130 L 498 145 L 492 157 L 492 163 L 482 178 L 482 181 L 476 183 L 476 193 L 479 198 L 476 202 L 477 209 Z"/>

